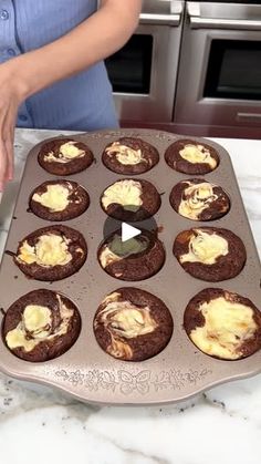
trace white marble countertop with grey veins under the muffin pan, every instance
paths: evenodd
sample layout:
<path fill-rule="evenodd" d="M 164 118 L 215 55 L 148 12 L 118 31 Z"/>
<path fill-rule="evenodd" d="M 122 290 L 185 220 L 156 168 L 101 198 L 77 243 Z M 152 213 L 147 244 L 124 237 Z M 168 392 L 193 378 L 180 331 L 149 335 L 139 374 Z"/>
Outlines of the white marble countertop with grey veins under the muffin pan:
<path fill-rule="evenodd" d="M 0 205 L 0 258 L 29 149 L 61 132 L 18 130 L 15 179 Z M 215 138 L 230 153 L 261 255 L 261 141 Z M 0 374 L 0 462 L 260 464 L 261 374 L 176 405 L 82 404 Z"/>

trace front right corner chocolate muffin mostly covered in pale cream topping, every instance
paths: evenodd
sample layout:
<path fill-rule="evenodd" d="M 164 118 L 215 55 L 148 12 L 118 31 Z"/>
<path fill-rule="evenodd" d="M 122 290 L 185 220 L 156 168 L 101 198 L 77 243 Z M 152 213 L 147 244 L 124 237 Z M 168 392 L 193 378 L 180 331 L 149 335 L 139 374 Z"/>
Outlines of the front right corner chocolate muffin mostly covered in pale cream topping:
<path fill-rule="evenodd" d="M 184 327 L 196 347 L 215 358 L 247 358 L 261 347 L 261 312 L 248 298 L 220 288 L 189 301 Z"/>

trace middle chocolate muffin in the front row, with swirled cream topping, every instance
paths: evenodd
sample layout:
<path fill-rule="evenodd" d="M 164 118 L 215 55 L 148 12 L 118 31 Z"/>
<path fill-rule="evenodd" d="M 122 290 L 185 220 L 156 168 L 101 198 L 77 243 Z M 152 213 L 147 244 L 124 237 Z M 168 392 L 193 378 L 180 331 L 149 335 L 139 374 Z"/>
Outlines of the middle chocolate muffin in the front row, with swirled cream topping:
<path fill-rule="evenodd" d="M 109 293 L 94 317 L 100 347 L 123 361 L 144 361 L 168 344 L 173 318 L 166 305 L 148 291 L 123 287 Z"/>

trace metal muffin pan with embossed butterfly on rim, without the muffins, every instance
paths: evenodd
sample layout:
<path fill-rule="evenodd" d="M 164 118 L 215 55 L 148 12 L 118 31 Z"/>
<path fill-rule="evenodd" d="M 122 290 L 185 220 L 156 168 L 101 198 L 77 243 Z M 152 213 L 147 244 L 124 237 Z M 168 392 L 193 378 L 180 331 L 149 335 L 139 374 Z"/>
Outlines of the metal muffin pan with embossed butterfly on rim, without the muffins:
<path fill-rule="evenodd" d="M 140 137 L 154 145 L 160 161 L 149 172 L 135 175 L 135 179 L 149 181 L 161 196 L 161 206 L 154 216 L 158 226 L 158 238 L 166 250 L 163 268 L 143 281 L 121 281 L 107 275 L 97 261 L 97 249 L 103 240 L 103 227 L 107 215 L 100 205 L 102 192 L 123 174 L 111 172 L 102 163 L 106 145 L 124 136 Z M 28 279 L 6 252 L 0 271 L 1 308 L 7 311 L 23 295 L 36 290 L 58 291 L 74 302 L 81 315 L 80 337 L 64 354 L 45 362 L 23 361 L 13 355 L 2 339 L 0 340 L 0 369 L 9 375 L 56 386 L 73 396 L 106 404 L 157 404 L 188 399 L 222 382 L 257 374 L 261 371 L 261 350 L 237 360 L 225 361 L 199 351 L 182 328 L 184 312 L 189 300 L 206 288 L 222 288 L 249 298 L 259 310 L 260 262 L 241 200 L 232 165 L 226 149 L 211 142 L 192 137 L 198 143 L 207 143 L 217 149 L 220 163 L 206 181 L 220 185 L 228 194 L 231 207 L 227 215 L 207 223 L 194 221 L 178 215 L 169 203 L 173 187 L 188 179 L 188 174 L 171 169 L 165 158 L 167 147 L 185 137 L 150 130 L 118 130 L 75 135 L 73 140 L 85 143 L 96 159 L 86 171 L 71 175 L 90 195 L 90 207 L 81 216 L 66 221 L 84 236 L 88 255 L 84 266 L 73 276 L 54 282 Z M 190 137 L 191 140 L 191 137 Z M 33 189 L 40 184 L 58 178 L 46 173 L 38 163 L 40 147 L 29 154 L 21 188 L 8 236 L 6 251 L 17 250 L 18 243 L 30 233 L 46 227 L 48 223 L 28 210 L 28 202 Z M 197 177 L 195 174 L 194 178 Z M 202 178 L 202 175 L 198 176 Z M 63 224 L 63 223 L 62 223 Z M 119 223 L 117 223 L 118 228 Z M 173 254 L 173 245 L 181 230 L 191 227 L 222 227 L 236 233 L 244 243 L 247 262 L 233 279 L 207 282 L 187 274 Z M 135 223 L 139 227 L 139 223 Z M 135 287 L 160 298 L 169 309 L 174 320 L 173 337 L 167 347 L 154 358 L 142 362 L 126 362 L 106 354 L 96 342 L 93 318 L 103 299 L 121 287 Z"/>

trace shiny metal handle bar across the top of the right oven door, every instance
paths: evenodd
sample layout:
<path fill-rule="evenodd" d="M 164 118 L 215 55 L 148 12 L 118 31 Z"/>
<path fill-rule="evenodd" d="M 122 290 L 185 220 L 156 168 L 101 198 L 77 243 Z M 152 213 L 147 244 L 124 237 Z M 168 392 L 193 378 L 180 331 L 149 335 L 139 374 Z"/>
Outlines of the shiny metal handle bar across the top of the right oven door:
<path fill-rule="evenodd" d="M 221 19 L 200 17 L 197 3 L 188 3 L 187 11 L 191 29 L 237 29 L 261 31 L 261 21 L 244 19 Z"/>

